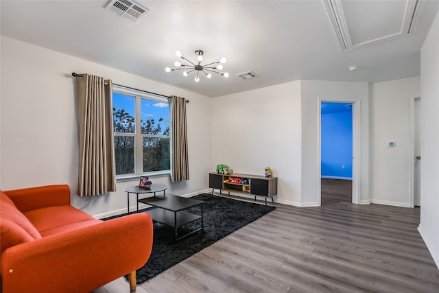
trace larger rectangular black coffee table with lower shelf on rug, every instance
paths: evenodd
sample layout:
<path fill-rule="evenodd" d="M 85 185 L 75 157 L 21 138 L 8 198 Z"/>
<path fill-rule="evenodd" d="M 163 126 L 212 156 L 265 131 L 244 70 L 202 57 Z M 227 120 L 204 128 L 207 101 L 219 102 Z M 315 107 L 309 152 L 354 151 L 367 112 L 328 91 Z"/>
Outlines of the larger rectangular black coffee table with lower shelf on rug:
<path fill-rule="evenodd" d="M 181 196 L 174 196 L 173 194 L 168 194 L 167 196 L 156 196 L 154 198 L 142 198 L 139 200 L 144 204 L 150 204 L 158 209 L 152 209 L 147 211 L 150 213 L 152 220 L 171 226 L 174 228 L 175 242 L 183 239 L 193 233 L 198 231 L 203 231 L 203 203 L 202 200 L 194 200 L 193 198 L 182 198 Z M 200 206 L 201 215 L 195 215 L 184 209 L 189 209 L 190 207 Z M 186 233 L 178 237 L 177 229 L 185 224 L 189 224 L 196 220 L 201 220 L 200 228 L 195 228 L 195 230 Z"/>

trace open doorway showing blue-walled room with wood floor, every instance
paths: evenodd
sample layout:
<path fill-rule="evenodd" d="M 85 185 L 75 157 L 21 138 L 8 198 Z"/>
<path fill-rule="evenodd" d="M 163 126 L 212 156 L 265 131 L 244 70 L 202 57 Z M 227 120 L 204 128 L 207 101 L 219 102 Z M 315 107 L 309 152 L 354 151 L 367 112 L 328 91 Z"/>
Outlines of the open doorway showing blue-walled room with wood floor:
<path fill-rule="evenodd" d="M 355 174 L 359 165 L 359 102 L 320 101 L 320 206 L 334 202 L 359 203 Z"/>

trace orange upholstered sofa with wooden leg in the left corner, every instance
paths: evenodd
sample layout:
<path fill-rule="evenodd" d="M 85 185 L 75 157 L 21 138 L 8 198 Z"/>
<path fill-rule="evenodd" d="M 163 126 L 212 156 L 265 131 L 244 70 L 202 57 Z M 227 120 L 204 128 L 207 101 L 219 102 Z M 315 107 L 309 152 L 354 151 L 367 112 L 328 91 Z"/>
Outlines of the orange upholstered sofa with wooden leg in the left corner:
<path fill-rule="evenodd" d="M 67 185 L 1 191 L 1 291 L 90 292 L 136 270 L 152 250 L 147 213 L 108 221 L 70 205 Z"/>

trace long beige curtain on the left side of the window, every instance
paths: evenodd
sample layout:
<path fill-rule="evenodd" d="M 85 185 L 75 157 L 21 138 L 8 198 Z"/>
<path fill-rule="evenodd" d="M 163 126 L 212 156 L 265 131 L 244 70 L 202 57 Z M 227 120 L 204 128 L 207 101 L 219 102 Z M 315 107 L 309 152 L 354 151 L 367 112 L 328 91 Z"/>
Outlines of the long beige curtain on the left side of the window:
<path fill-rule="evenodd" d="M 76 99 L 80 148 L 78 195 L 116 191 L 111 80 L 79 75 Z"/>

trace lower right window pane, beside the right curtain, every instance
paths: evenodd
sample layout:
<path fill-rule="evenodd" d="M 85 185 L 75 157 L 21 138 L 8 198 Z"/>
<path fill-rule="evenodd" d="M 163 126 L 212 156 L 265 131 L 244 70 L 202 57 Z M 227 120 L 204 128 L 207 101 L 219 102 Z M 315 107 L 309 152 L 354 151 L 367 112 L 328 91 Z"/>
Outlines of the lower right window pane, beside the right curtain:
<path fill-rule="evenodd" d="M 169 169 L 169 139 L 143 137 L 143 172 Z"/>

